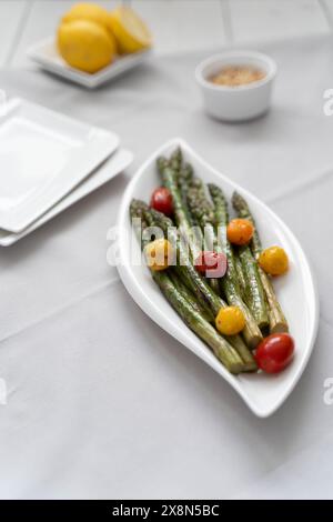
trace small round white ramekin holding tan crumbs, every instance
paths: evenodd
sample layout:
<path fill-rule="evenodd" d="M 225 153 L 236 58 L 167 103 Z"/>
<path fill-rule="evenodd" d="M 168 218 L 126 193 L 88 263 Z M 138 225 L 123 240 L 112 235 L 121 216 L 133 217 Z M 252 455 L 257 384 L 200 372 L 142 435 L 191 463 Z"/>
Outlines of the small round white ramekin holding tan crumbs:
<path fill-rule="evenodd" d="M 212 83 L 209 78 L 226 66 L 249 66 L 265 72 L 265 77 L 239 87 Z M 269 110 L 276 63 L 266 54 L 254 51 L 226 51 L 201 62 L 195 79 L 201 88 L 206 112 L 219 120 L 244 121 Z"/>

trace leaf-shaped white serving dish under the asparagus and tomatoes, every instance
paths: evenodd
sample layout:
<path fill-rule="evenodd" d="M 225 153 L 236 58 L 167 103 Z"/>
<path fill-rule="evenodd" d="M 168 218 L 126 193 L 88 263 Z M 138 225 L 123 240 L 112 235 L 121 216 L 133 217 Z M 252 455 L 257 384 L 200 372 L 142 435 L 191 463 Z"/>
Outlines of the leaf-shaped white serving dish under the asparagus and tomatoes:
<path fill-rule="evenodd" d="M 131 223 L 129 205 L 132 198 L 149 201 L 152 191 L 161 184 L 155 160 L 160 154 L 168 155 L 175 147 L 182 148 L 185 161 L 205 182 L 219 184 L 230 198 L 234 190 L 249 201 L 254 213 L 263 244 L 281 244 L 291 261 L 289 274 L 274 282 L 278 298 L 287 317 L 291 333 L 295 340 L 295 358 L 292 364 L 279 375 L 241 374 L 234 377 L 218 361 L 211 350 L 182 322 L 164 299 L 145 265 L 133 264 L 129 238 Z M 131 297 L 142 310 L 168 333 L 213 368 L 241 395 L 258 416 L 274 413 L 290 395 L 297 383 L 311 355 L 319 324 L 319 299 L 314 279 L 306 257 L 291 230 L 258 198 L 239 187 L 226 175 L 210 167 L 182 139 L 174 139 L 154 152 L 139 169 L 123 195 L 119 227 L 119 273 Z M 133 242 L 138 259 L 140 247 Z M 225 399 L 225 398 L 224 398 Z"/>

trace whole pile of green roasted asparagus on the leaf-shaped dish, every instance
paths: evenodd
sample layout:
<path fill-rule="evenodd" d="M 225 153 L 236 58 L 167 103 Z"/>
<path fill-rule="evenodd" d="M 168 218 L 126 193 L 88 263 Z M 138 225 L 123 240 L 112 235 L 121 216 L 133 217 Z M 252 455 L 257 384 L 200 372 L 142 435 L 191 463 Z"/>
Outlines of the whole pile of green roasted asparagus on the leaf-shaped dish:
<path fill-rule="evenodd" d="M 130 205 L 142 250 L 160 237 L 157 230 L 148 230 L 151 227 L 159 227 L 173 245 L 171 251 L 175 264 L 171 261 L 170 265 L 169 260 L 169 267 L 167 263 L 153 265 L 150 270 L 152 278 L 185 324 L 213 350 L 231 373 L 255 371 L 256 362 L 249 348 L 258 345 L 262 340 L 261 330 L 265 331 L 268 324 L 271 333 L 275 333 L 287 331 L 287 322 L 271 277 L 258 263 L 262 244 L 248 203 L 236 192 L 233 194 L 232 202 L 239 217 L 254 225 L 249 245 L 236 248 L 228 240 L 228 202 L 219 187 L 209 184 L 211 201 L 203 182 L 193 177 L 192 167 L 184 162 L 180 148 L 169 159 L 159 158 L 157 163 L 163 184 L 172 197 L 178 229 L 170 218 L 143 201 L 132 200 Z M 133 221 L 133 218 L 140 219 Z M 223 278 L 205 279 L 195 270 L 194 260 L 202 250 L 226 255 L 228 271 Z M 245 317 L 242 335 L 228 337 L 218 331 L 215 318 L 221 308 L 228 307 L 221 295 L 229 304 L 242 310 Z"/>

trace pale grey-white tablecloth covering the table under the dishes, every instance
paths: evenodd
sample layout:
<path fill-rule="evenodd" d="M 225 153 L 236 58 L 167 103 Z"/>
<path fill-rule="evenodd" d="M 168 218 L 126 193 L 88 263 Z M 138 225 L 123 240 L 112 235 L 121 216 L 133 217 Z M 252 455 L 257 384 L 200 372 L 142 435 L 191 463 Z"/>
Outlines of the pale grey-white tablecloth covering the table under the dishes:
<path fill-rule="evenodd" d="M 1 498 L 325 498 L 332 495 L 333 40 L 268 44 L 273 110 L 252 123 L 208 119 L 193 80 L 203 54 L 152 59 L 89 92 L 38 71 L 0 88 L 117 131 L 127 174 L 0 250 Z M 108 229 L 135 168 L 185 138 L 266 201 L 307 252 L 320 333 L 292 396 L 256 419 L 221 378 L 153 324 L 107 263 Z"/>

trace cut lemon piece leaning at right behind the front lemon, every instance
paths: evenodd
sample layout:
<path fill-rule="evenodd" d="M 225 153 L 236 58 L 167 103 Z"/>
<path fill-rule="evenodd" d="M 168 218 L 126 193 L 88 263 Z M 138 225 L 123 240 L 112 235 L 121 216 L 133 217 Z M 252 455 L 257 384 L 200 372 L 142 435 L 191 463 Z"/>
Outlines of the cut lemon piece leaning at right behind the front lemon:
<path fill-rule="evenodd" d="M 111 12 L 111 28 L 121 53 L 141 51 L 152 44 L 148 27 L 129 7 L 120 6 Z"/>

